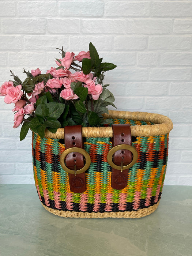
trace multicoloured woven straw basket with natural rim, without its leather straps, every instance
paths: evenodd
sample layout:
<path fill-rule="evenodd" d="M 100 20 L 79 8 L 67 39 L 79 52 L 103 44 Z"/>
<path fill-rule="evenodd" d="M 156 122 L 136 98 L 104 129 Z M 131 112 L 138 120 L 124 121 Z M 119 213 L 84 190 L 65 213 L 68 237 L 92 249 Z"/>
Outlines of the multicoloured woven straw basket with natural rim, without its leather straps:
<path fill-rule="evenodd" d="M 35 186 L 46 210 L 62 217 L 140 218 L 154 212 L 161 198 L 165 178 L 168 135 L 172 121 L 160 114 L 109 111 L 114 124 L 130 124 L 132 146 L 138 160 L 129 169 L 127 187 L 113 189 L 107 154 L 112 148 L 112 127 L 83 127 L 84 150 L 91 157 L 86 171 L 87 190 L 72 193 L 68 173 L 60 165 L 65 150 L 64 128 L 46 132 L 41 139 L 33 133 Z"/>

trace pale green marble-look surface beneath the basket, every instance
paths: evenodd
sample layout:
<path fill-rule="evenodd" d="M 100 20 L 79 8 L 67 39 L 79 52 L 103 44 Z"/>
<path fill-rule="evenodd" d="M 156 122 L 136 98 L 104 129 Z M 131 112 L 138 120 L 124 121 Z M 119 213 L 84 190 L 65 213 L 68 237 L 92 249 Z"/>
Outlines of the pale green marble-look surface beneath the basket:
<path fill-rule="evenodd" d="M 62 218 L 34 185 L 0 185 L 0 256 L 191 256 L 192 187 L 164 186 L 140 219 Z"/>

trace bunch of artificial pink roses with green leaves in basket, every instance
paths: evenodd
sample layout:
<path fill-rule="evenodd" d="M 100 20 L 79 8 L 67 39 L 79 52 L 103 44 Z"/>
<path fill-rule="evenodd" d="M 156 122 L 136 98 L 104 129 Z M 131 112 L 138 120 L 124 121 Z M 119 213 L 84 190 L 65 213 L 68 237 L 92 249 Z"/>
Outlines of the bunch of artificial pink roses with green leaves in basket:
<path fill-rule="evenodd" d="M 29 129 L 44 138 L 45 129 L 55 133 L 66 125 L 96 127 L 111 122 L 102 116 L 108 113 L 108 105 L 115 107 L 114 96 L 106 89 L 109 84 L 103 84 L 103 78 L 116 65 L 102 62 L 91 42 L 88 52 L 81 51 L 76 56 L 64 52 L 63 47 L 59 50 L 62 59 L 56 59 L 57 68 L 51 67 L 46 74 L 41 74 L 39 68 L 31 72 L 24 69 L 24 82 L 11 71 L 14 80 L 0 87 L 4 102 L 15 104 L 13 128 L 22 125 L 20 140 Z"/>

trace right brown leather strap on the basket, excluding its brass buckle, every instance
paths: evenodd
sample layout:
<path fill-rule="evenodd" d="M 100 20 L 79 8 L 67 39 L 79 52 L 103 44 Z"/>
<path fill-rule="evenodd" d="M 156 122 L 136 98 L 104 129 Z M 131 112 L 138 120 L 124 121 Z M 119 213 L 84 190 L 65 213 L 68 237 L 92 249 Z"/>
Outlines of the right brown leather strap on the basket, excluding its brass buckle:
<path fill-rule="evenodd" d="M 120 144 L 128 144 L 131 145 L 131 129 L 129 124 L 113 124 L 113 138 L 112 138 L 112 146 L 115 147 Z M 132 161 L 132 153 L 129 150 L 118 150 L 114 153 L 113 162 L 114 164 L 121 166 L 121 162 L 123 162 L 123 166 L 128 165 Z M 114 189 L 123 189 L 127 186 L 129 169 L 116 170 L 112 168 L 112 176 L 111 176 L 111 187 Z"/>

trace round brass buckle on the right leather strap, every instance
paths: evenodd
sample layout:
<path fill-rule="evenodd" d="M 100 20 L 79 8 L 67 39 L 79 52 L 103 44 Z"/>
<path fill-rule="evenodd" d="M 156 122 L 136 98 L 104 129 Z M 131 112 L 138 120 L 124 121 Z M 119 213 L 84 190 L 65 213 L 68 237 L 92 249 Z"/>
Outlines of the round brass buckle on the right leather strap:
<path fill-rule="evenodd" d="M 132 162 L 129 163 L 128 165 L 125 165 L 125 166 L 123 166 L 123 162 L 121 162 L 121 166 L 115 165 L 115 164 L 113 163 L 113 161 L 112 161 L 112 157 L 113 157 L 113 155 L 114 155 L 114 153 L 115 153 L 116 151 L 118 151 L 118 150 L 123 150 L 123 149 L 124 149 L 124 150 L 127 149 L 127 150 L 131 151 L 131 153 L 133 154 Z M 108 153 L 108 155 L 107 155 L 107 161 L 108 161 L 109 165 L 110 165 L 112 168 L 116 169 L 116 170 L 121 170 L 121 172 L 122 172 L 123 170 L 127 170 L 127 169 L 129 169 L 131 166 L 135 165 L 137 159 L 138 159 L 138 153 L 137 153 L 136 149 L 135 149 L 134 147 L 130 146 L 130 145 L 127 145 L 127 144 L 120 144 L 120 145 L 117 145 L 117 146 L 115 146 L 115 147 L 112 147 L 112 149 L 109 150 L 109 153 Z"/>

